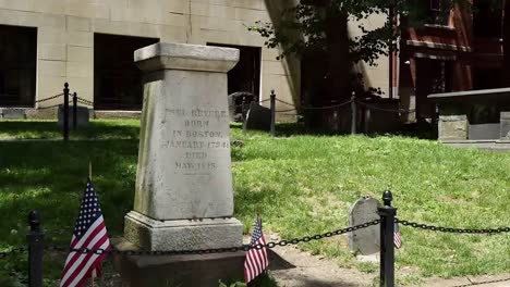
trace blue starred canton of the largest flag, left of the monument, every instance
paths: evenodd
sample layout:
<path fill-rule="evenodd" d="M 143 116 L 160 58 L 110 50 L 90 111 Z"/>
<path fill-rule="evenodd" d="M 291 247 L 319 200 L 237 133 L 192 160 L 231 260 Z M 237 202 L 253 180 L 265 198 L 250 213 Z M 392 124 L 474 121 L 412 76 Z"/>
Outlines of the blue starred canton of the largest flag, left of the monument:
<path fill-rule="evenodd" d="M 80 215 L 74 227 L 74 235 L 77 238 L 82 237 L 99 216 L 101 216 L 99 201 L 94 191 L 94 186 L 88 180 L 85 195 L 82 198 L 82 204 L 80 205 Z"/>

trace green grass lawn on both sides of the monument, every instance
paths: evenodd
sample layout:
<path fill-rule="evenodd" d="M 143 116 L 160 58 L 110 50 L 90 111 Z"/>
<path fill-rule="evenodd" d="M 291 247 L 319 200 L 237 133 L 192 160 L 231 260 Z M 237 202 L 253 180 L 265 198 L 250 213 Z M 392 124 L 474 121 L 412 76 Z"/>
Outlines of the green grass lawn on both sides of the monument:
<path fill-rule="evenodd" d="M 123 216 L 133 204 L 138 130 L 138 121 L 93 121 L 63 142 L 54 122 L 0 122 L 0 250 L 26 244 L 27 214 L 34 209 L 41 211 L 47 241 L 68 246 L 89 162 L 108 232 L 122 235 Z M 393 192 L 402 220 L 465 228 L 510 225 L 510 153 L 399 136 L 290 136 L 301 130 L 290 125 L 277 130 L 286 136 L 272 139 L 267 133 L 244 134 L 239 125 L 231 128 L 231 140 L 244 142 L 232 147 L 232 172 L 234 215 L 246 234 L 257 210 L 268 240 L 271 234 L 293 238 L 342 228 L 352 202 L 363 196 L 379 199 L 385 189 Z M 399 286 L 510 270 L 508 234 L 442 234 L 405 226 L 401 234 Z M 378 265 L 356 262 L 347 236 L 299 247 L 339 267 L 377 276 Z M 64 254 L 47 252 L 45 260 L 47 284 L 53 286 Z M 111 275 L 109 264 L 106 271 Z M 0 286 L 22 283 L 26 272 L 25 255 L 0 260 Z"/>

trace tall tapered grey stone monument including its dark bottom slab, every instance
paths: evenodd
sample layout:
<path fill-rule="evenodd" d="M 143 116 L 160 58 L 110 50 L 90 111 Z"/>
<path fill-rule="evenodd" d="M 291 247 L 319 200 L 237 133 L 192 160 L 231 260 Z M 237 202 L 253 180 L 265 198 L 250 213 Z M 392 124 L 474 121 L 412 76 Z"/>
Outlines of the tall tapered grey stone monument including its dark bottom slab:
<path fill-rule="evenodd" d="M 227 72 L 239 50 L 156 43 L 135 51 L 144 105 L 134 209 L 120 250 L 242 245 L 233 215 Z M 218 286 L 242 278 L 244 252 L 116 259 L 124 286 Z M 172 285 L 173 286 L 173 285 Z"/>

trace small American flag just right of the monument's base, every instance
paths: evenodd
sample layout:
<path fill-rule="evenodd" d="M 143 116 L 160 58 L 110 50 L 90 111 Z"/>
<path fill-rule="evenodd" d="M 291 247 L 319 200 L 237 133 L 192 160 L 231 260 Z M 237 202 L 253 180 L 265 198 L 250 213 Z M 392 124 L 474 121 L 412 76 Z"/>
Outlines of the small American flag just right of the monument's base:
<path fill-rule="evenodd" d="M 255 220 L 255 228 L 253 229 L 252 241 L 250 246 L 266 245 L 266 239 L 262 232 L 262 220 L 259 216 Z M 260 275 L 269 265 L 269 258 L 267 257 L 266 247 L 262 249 L 250 249 L 246 252 L 244 260 L 244 280 L 247 284 L 255 277 Z"/>

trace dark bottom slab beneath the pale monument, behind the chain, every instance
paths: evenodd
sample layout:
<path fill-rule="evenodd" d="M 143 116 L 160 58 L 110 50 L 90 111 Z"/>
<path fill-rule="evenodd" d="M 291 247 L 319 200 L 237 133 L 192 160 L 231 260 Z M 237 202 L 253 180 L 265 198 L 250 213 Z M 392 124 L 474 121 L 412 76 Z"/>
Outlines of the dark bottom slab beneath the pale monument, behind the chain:
<path fill-rule="evenodd" d="M 139 250 L 125 239 L 113 239 L 120 251 Z M 243 282 L 244 251 L 194 255 L 119 255 L 113 265 L 123 287 L 199 286 Z"/>

